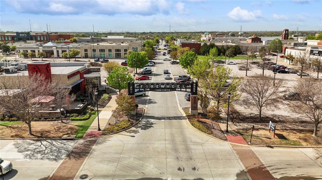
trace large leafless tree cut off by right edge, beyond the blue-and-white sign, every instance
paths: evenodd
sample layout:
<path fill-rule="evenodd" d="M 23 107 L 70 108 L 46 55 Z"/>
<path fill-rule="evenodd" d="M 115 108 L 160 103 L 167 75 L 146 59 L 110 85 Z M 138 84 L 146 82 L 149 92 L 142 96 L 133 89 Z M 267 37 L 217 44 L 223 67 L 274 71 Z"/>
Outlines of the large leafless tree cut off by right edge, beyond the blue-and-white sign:
<path fill-rule="evenodd" d="M 287 101 L 289 110 L 314 122 L 313 136 L 316 137 L 317 126 L 322 123 L 322 82 L 313 77 L 298 80 L 292 88 L 300 92 L 298 101 Z"/>

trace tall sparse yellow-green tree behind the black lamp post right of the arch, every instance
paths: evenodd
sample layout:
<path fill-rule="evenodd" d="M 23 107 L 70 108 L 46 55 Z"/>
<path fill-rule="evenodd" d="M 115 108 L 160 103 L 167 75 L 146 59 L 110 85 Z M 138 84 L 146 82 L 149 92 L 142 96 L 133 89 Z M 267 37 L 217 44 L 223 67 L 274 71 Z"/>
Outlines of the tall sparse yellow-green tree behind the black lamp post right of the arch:
<path fill-rule="evenodd" d="M 214 101 L 216 114 L 219 117 L 220 107 L 227 103 L 228 93 L 231 93 L 231 102 L 240 98 L 238 89 L 241 85 L 241 79 L 233 76 L 230 85 L 227 86 L 227 80 L 232 76 L 232 69 L 223 66 L 211 67 L 207 76 L 199 79 L 200 87 L 206 92 L 207 96 Z"/>

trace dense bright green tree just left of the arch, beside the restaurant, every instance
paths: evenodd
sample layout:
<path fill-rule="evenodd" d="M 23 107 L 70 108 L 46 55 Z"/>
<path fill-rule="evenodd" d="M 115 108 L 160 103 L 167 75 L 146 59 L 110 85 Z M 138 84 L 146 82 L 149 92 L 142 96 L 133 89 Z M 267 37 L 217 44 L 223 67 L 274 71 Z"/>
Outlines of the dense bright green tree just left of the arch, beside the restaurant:
<path fill-rule="evenodd" d="M 128 73 L 127 67 L 120 66 L 114 68 L 106 80 L 110 87 L 121 92 L 121 90 L 128 88 L 128 81 L 134 81 L 134 78 Z"/>

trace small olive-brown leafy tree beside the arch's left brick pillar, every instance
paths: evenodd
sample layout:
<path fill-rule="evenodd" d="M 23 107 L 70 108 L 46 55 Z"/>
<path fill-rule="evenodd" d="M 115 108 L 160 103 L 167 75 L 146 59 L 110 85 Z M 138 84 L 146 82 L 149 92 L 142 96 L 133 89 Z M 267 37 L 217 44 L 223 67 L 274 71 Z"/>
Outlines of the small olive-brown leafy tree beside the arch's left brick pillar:
<path fill-rule="evenodd" d="M 120 112 L 127 116 L 129 120 L 131 111 L 135 109 L 135 101 L 130 96 L 120 93 L 116 98 L 116 104 Z"/>

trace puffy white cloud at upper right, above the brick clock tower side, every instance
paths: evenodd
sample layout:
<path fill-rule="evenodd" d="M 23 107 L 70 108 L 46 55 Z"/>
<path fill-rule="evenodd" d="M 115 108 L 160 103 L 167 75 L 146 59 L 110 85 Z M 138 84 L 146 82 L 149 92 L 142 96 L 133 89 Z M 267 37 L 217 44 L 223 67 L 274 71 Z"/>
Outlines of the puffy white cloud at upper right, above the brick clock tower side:
<path fill-rule="evenodd" d="M 239 6 L 235 7 L 228 14 L 228 17 L 233 21 L 255 21 L 258 18 L 262 17 L 260 10 L 248 11 L 241 9 Z"/>

